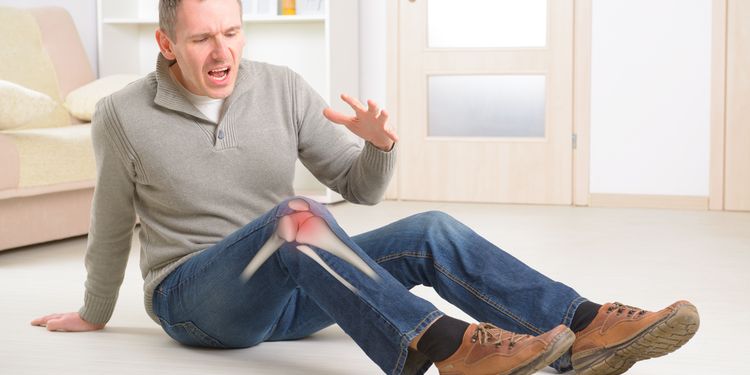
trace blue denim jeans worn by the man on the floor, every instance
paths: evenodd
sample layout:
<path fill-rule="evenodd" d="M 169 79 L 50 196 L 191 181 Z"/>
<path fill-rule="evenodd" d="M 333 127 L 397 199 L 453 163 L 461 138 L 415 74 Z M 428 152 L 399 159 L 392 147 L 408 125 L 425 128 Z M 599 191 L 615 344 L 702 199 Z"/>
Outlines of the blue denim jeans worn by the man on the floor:
<path fill-rule="evenodd" d="M 431 286 L 481 322 L 540 334 L 570 325 L 585 299 L 550 280 L 441 212 L 426 212 L 349 237 L 325 206 L 310 211 L 380 276 L 375 281 L 321 249 L 314 251 L 356 291 L 286 243 L 244 282 L 240 274 L 277 222 L 286 200 L 192 257 L 154 292 L 154 312 L 178 342 L 245 348 L 293 340 L 338 324 L 386 374 L 422 374 L 431 365 L 409 343 L 443 315 L 409 292 Z M 312 247 L 312 246 L 311 246 Z M 553 367 L 570 368 L 569 355 Z"/>

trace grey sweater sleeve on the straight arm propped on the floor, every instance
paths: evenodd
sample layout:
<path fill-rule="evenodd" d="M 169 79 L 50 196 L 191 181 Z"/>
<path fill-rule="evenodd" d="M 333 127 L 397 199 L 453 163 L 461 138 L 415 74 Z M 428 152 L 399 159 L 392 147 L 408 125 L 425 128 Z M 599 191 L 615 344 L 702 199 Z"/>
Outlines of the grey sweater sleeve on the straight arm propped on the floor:
<path fill-rule="evenodd" d="M 106 323 L 115 308 L 130 254 L 135 209 L 133 164 L 123 145 L 111 98 L 101 100 L 91 124 L 96 187 L 86 249 L 83 320 Z"/>

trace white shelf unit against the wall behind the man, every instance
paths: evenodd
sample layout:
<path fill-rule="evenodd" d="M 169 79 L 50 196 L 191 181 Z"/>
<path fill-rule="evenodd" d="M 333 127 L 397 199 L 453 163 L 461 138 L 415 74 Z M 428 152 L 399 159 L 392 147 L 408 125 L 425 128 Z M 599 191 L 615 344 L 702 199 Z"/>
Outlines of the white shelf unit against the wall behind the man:
<path fill-rule="evenodd" d="M 302 75 L 336 110 L 351 109 L 339 94 L 359 93 L 358 2 L 326 0 L 319 15 L 243 15 L 243 57 L 285 65 Z M 99 76 L 146 75 L 156 67 L 159 49 L 158 0 L 97 0 Z M 319 202 L 343 200 L 297 162 L 297 194 Z"/>

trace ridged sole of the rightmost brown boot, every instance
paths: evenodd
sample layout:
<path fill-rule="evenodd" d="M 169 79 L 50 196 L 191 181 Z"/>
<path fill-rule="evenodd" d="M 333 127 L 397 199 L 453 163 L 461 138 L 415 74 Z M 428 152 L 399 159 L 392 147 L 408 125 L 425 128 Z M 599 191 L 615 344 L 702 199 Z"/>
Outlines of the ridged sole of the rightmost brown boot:
<path fill-rule="evenodd" d="M 638 361 L 679 349 L 695 335 L 699 325 L 695 306 L 682 305 L 627 342 L 583 357 L 574 356 L 573 368 L 577 375 L 622 374 Z"/>

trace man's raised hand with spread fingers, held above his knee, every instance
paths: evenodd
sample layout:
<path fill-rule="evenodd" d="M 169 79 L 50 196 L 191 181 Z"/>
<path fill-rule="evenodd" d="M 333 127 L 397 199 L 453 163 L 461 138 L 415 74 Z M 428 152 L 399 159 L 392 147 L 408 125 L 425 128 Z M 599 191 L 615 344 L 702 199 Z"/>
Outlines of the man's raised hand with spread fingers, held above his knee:
<path fill-rule="evenodd" d="M 373 146 L 389 151 L 398 136 L 388 128 L 388 112 L 380 110 L 372 100 L 367 101 L 367 109 L 357 99 L 342 94 L 341 100 L 345 101 L 354 110 L 354 116 L 326 108 L 323 115 L 331 122 L 346 126 L 349 131 L 358 137 L 370 142 Z"/>

